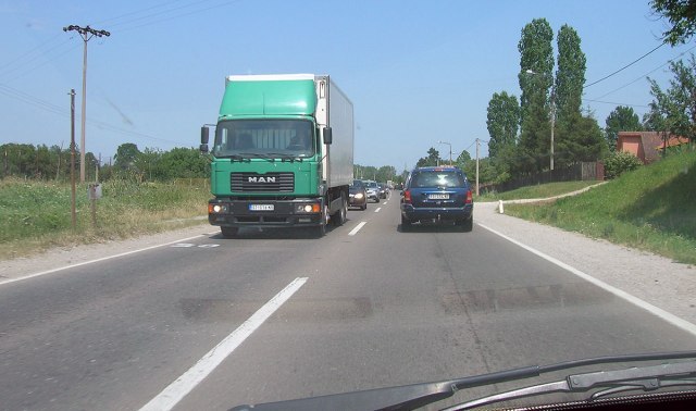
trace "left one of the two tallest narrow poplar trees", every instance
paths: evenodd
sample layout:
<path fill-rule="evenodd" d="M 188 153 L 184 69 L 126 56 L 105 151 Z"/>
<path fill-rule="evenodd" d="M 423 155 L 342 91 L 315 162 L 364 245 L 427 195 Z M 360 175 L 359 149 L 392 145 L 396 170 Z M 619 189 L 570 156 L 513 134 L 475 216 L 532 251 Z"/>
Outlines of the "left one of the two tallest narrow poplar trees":
<path fill-rule="evenodd" d="M 544 169 L 548 162 L 550 129 L 548 127 L 548 96 L 554 76 L 554 32 L 546 18 L 535 18 L 522 29 L 520 51 L 520 114 L 518 172 Z"/>

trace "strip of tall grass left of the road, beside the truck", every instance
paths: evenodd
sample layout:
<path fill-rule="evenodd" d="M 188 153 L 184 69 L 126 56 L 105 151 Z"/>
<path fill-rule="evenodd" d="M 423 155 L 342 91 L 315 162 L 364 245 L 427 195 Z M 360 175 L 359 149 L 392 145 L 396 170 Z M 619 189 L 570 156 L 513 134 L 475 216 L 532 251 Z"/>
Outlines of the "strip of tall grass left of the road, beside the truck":
<path fill-rule="evenodd" d="M 77 186 L 75 198 L 73 229 L 69 183 L 0 180 L 0 260 L 204 223 L 200 217 L 207 215 L 210 189 L 203 180 L 195 185 L 105 182 L 96 202 L 96 226 L 86 184 Z"/>

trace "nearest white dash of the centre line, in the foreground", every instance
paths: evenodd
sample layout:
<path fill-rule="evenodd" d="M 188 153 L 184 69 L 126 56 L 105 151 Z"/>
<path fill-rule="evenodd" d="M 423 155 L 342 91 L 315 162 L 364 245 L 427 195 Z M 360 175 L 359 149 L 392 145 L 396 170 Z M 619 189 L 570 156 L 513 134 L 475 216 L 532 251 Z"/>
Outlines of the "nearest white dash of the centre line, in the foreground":
<path fill-rule="evenodd" d="M 261 307 L 247 321 L 237 327 L 225 339 L 220 341 L 212 350 L 208 351 L 198 362 L 188 369 L 182 376 L 162 390 L 140 411 L 165 411 L 174 408 L 188 393 L 203 381 L 232 351 L 234 351 L 247 337 L 251 335 L 264 321 L 283 306 L 293 295 L 307 283 L 308 277 L 297 277 L 281 292 L 276 294 L 269 302 Z"/>

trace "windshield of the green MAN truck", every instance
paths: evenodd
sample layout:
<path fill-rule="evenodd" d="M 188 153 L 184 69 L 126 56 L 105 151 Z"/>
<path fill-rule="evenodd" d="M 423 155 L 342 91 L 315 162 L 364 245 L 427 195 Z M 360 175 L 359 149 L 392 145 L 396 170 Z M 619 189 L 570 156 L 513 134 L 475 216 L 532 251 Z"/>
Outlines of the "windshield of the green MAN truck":
<path fill-rule="evenodd" d="M 315 138 L 311 122 L 303 120 L 229 120 L 215 129 L 215 157 L 299 157 L 314 155 Z"/>

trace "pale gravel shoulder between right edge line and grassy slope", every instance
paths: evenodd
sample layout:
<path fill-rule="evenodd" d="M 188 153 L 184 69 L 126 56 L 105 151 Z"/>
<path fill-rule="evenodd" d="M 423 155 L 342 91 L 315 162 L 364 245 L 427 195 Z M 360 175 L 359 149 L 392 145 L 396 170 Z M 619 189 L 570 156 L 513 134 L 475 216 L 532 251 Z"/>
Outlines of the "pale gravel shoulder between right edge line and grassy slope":
<path fill-rule="evenodd" d="M 504 207 L 505 209 L 505 207 Z M 477 202 L 475 222 L 696 324 L 696 267 L 577 233 L 500 214 Z M 483 227 L 474 227 L 474 233 Z"/>

